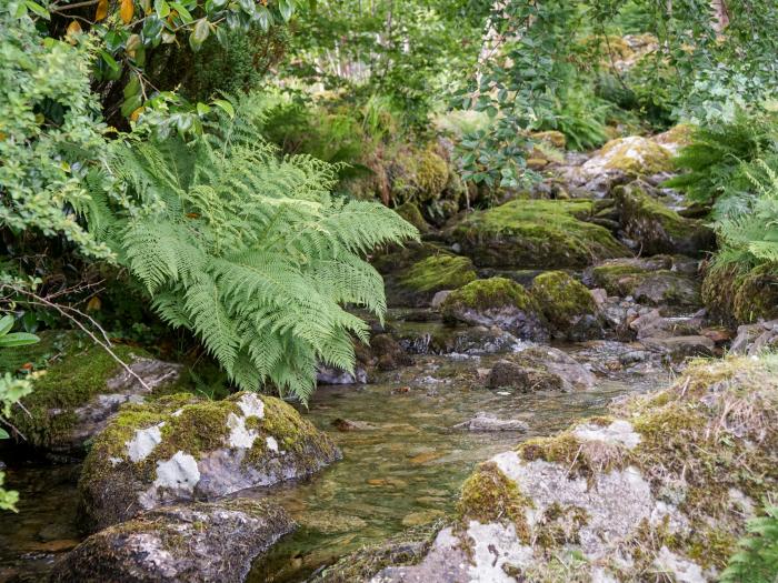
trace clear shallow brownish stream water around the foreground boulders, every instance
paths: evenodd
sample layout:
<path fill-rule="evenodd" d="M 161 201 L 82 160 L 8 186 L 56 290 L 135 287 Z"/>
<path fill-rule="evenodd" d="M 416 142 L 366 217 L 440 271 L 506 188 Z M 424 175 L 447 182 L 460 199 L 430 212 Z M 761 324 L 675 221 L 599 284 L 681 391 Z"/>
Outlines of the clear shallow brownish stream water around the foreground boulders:
<path fill-rule="evenodd" d="M 450 513 L 472 468 L 520 441 L 547 435 L 572 420 L 601 413 L 615 396 L 661 381 L 602 380 L 594 391 L 518 394 L 485 389 L 478 369 L 499 356 L 417 356 L 413 366 L 380 383 L 320 388 L 302 413 L 327 431 L 343 461 L 306 483 L 241 495 L 273 496 L 300 529 L 255 564 L 249 581 L 305 581 L 310 573 L 365 544 Z M 471 433 L 451 429 L 479 411 L 528 423 L 525 433 Z M 336 419 L 368 422 L 371 430 L 340 432 Z M 40 581 L 58 554 L 78 540 L 77 465 L 8 471 L 20 491 L 20 513 L 0 517 L 0 581 Z"/>

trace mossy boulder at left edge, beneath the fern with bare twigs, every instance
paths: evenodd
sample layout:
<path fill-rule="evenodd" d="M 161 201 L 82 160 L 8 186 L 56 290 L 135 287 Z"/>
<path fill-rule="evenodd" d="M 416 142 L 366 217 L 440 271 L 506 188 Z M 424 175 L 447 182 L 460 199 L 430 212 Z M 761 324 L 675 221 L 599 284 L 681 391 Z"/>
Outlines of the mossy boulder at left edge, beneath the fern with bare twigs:
<path fill-rule="evenodd" d="M 83 454 L 84 443 L 98 434 L 123 403 L 174 391 L 181 366 L 152 359 L 146 351 L 117 344 L 113 352 L 140 378 L 122 368 L 107 351 L 74 332 L 44 332 L 40 344 L 8 350 L 8 370 L 40 369 L 34 391 L 21 400 L 11 422 L 36 448 Z M 6 352 L 6 351 L 3 351 Z"/>

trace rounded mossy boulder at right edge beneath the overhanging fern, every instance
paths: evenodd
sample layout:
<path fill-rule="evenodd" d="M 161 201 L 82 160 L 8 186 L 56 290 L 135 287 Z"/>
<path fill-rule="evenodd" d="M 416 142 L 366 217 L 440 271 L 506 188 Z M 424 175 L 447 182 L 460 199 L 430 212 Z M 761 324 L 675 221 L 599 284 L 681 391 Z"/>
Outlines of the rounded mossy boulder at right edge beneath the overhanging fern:
<path fill-rule="evenodd" d="M 711 315 L 726 323 L 748 324 L 778 318 L 778 263 L 754 269 L 738 264 L 708 269 L 702 300 Z"/>

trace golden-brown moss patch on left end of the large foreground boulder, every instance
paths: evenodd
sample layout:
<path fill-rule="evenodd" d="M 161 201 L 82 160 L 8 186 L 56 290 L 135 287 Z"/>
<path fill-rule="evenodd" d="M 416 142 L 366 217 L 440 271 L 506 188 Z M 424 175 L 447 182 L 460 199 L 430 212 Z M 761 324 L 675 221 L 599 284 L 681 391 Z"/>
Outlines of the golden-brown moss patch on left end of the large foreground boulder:
<path fill-rule="evenodd" d="M 495 462 L 481 464 L 462 484 L 458 504 L 462 527 L 471 520 L 481 524 L 512 523 L 516 534 L 529 543 L 530 533 L 525 511 L 532 502 L 519 491 L 519 486 L 506 476 Z"/>

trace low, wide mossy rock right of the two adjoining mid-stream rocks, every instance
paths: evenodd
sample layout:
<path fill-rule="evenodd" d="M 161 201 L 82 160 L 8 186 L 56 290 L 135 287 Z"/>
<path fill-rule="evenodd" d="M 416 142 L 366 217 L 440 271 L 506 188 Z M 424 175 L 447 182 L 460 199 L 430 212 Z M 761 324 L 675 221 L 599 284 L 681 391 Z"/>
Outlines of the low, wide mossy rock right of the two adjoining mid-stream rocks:
<path fill-rule="evenodd" d="M 609 295 L 631 295 L 644 304 L 699 308 L 700 284 L 694 265 L 670 255 L 614 259 L 587 270 L 585 279 Z"/>

